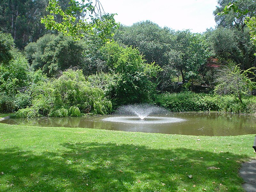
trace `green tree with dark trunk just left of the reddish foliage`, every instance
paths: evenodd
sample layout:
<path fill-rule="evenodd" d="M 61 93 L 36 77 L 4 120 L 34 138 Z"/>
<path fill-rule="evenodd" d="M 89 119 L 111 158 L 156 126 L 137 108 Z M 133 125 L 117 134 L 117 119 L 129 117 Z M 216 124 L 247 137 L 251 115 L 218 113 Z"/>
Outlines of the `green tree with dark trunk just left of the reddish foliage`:
<path fill-rule="evenodd" d="M 181 75 L 183 83 L 190 80 L 193 85 L 193 81 L 200 77 L 211 53 L 207 49 L 205 37 L 201 34 L 192 34 L 189 30 L 177 31 L 175 37 L 176 45 L 168 53 L 168 65 L 178 76 Z"/>

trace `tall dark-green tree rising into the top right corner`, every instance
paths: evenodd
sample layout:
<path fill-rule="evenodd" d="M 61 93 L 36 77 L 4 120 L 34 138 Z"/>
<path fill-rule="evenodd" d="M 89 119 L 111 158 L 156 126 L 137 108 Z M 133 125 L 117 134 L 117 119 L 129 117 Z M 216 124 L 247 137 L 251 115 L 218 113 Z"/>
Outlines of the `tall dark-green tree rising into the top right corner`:
<path fill-rule="evenodd" d="M 234 2 L 235 1 L 231 1 L 231 3 Z M 250 40 L 249 28 L 246 26 L 245 22 L 246 17 L 251 17 L 256 12 L 255 1 L 237 0 L 236 5 L 241 11 L 230 10 L 230 12 L 226 12 L 226 14 L 220 13 L 225 11 L 226 6 L 230 5 L 230 1 L 221 0 L 219 4 L 220 6 L 214 11 L 218 28 L 216 32 L 213 31 L 211 37 L 212 41 L 215 42 L 213 48 L 216 54 L 219 54 L 226 60 L 231 59 L 235 61 L 236 64 L 241 64 L 240 67 L 243 70 L 255 66 L 255 46 Z M 226 40 L 228 40 L 228 43 L 231 45 L 230 47 L 223 47 L 221 42 L 225 42 Z M 227 42 L 224 44 L 227 44 Z"/>

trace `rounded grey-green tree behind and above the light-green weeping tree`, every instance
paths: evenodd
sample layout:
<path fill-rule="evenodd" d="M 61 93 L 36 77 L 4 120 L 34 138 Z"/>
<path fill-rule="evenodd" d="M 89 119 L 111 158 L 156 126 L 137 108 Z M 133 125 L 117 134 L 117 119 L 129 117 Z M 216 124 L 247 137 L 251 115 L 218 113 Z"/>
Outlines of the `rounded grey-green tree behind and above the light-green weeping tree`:
<path fill-rule="evenodd" d="M 55 76 L 68 68 L 83 69 L 84 49 L 83 41 L 75 41 L 72 37 L 62 34 L 47 34 L 36 43 L 28 44 L 25 53 L 32 68 L 42 68 L 48 76 Z"/>

